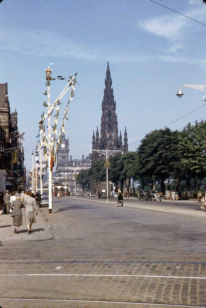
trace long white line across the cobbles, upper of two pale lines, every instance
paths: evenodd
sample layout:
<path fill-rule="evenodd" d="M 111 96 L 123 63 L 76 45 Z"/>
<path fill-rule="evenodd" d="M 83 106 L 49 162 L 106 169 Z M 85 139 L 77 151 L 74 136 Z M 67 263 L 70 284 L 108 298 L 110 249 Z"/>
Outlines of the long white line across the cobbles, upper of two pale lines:
<path fill-rule="evenodd" d="M 205 279 L 206 277 L 187 276 L 154 276 L 154 275 L 112 275 L 112 274 L 0 274 L 0 276 L 98 276 L 98 277 L 149 277 L 149 278 L 180 278 L 180 279 Z M 205 308 L 205 307 L 204 307 Z"/>

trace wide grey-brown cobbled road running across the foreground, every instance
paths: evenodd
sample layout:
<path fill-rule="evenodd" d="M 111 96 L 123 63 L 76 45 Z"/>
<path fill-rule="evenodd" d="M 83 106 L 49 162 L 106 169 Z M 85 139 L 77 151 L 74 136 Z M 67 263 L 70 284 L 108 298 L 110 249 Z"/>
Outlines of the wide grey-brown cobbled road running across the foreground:
<path fill-rule="evenodd" d="M 53 240 L 0 244 L 2 308 L 206 306 L 204 217 L 53 201 Z"/>

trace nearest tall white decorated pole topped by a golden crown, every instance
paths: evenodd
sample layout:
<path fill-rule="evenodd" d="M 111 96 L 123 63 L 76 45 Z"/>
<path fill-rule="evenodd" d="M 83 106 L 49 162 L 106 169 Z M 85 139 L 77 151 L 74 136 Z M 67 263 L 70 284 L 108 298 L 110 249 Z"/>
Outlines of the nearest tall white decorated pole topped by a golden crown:
<path fill-rule="evenodd" d="M 48 67 L 45 71 L 46 80 L 51 80 L 52 70 Z M 47 97 L 48 97 L 48 168 L 49 168 L 49 214 L 52 213 L 52 171 L 51 171 L 51 115 L 50 115 L 50 83 L 47 83 Z"/>

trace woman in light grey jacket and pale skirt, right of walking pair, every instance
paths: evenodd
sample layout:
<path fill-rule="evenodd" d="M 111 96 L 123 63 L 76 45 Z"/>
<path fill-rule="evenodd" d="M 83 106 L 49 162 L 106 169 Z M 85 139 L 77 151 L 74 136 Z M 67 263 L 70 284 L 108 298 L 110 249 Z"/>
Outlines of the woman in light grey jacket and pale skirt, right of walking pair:
<path fill-rule="evenodd" d="M 28 197 L 24 201 L 25 206 L 25 224 L 28 227 L 28 234 L 31 233 L 31 226 L 36 222 L 36 217 L 34 212 L 36 212 L 36 216 L 38 215 L 37 212 L 37 201 L 35 198 L 32 197 L 32 193 L 28 193 Z"/>

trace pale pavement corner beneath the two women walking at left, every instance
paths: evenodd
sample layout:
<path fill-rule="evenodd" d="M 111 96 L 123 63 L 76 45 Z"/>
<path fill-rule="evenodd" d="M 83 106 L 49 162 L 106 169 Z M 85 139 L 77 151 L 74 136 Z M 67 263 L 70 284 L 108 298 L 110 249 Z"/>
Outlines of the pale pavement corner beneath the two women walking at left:
<path fill-rule="evenodd" d="M 11 213 L 0 215 L 0 241 L 46 241 L 53 239 L 53 233 L 42 210 L 38 210 L 36 223 L 32 225 L 32 232 L 28 234 L 27 225 L 24 223 L 24 211 L 22 210 L 23 226 L 19 228 L 19 234 L 14 233 L 13 218 Z"/>

